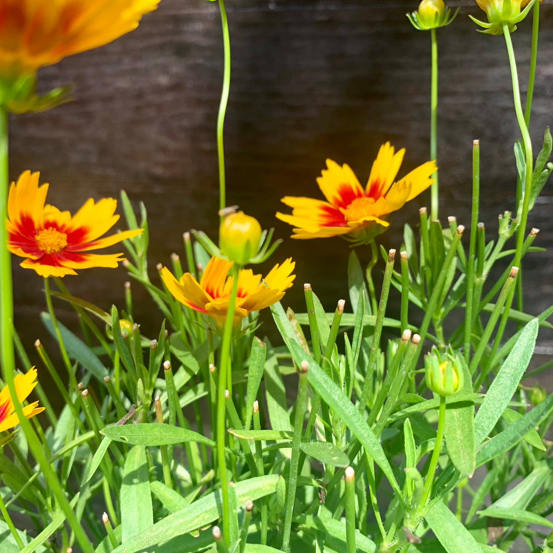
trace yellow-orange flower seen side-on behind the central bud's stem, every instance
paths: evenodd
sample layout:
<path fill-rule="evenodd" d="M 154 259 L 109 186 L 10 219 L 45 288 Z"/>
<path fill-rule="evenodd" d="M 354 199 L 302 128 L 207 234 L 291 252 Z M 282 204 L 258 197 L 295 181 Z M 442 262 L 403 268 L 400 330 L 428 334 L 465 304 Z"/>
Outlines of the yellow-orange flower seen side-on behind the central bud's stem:
<path fill-rule="evenodd" d="M 210 315 L 215 319 L 217 328 L 221 330 L 225 325 L 232 291 L 233 277 L 228 275 L 232 264 L 232 261 L 212 257 L 199 283 L 190 273 L 185 273 L 177 280 L 166 267 L 161 270 L 161 278 L 181 304 Z M 269 307 L 284 296 L 285 290 L 290 288 L 296 278 L 296 275 L 291 274 L 294 267 L 295 263 L 291 258 L 286 259 L 281 265 L 277 263 L 264 279 L 261 275 L 253 274 L 252 269 L 239 271 L 234 328 L 237 328 L 243 317 L 252 311 Z"/>

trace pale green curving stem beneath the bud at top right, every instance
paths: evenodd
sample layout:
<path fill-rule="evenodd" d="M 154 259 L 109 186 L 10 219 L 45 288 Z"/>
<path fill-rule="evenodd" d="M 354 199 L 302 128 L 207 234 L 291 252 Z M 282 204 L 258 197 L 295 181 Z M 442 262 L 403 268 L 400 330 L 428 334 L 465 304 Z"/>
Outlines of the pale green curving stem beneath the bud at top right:
<path fill-rule="evenodd" d="M 533 169 L 533 155 L 532 155 L 532 143 L 530 140 L 530 134 L 528 127 L 524 119 L 524 113 L 522 111 L 522 105 L 520 102 L 520 90 L 519 80 L 517 73 L 517 62 L 513 51 L 513 43 L 511 41 L 511 35 L 509 33 L 509 25 L 503 24 L 503 34 L 505 36 L 505 45 L 507 45 L 507 53 L 509 55 L 509 65 L 511 69 L 511 77 L 513 81 L 513 99 L 515 105 L 515 113 L 517 114 L 517 121 L 520 127 L 520 133 L 522 135 L 524 144 L 524 154 L 526 158 L 526 173 L 524 182 L 524 199 L 522 212 L 520 215 L 520 224 L 517 230 L 517 247 L 515 252 L 515 258 L 513 265 L 520 267 L 520 259 L 522 257 L 522 247 L 524 243 L 524 235 L 526 231 L 526 220 L 528 219 L 528 208 L 530 206 L 530 190 L 532 187 L 532 169 Z M 509 306 L 510 307 L 510 306 Z"/>

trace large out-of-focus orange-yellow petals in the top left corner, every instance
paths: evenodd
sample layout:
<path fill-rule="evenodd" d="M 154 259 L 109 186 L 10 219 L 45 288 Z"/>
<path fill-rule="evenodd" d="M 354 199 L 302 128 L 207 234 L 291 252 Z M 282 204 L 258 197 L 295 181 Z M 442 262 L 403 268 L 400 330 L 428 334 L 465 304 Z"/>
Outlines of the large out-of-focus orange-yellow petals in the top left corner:
<path fill-rule="evenodd" d="M 135 29 L 159 0 L 0 0 L 0 75 L 34 74 Z"/>

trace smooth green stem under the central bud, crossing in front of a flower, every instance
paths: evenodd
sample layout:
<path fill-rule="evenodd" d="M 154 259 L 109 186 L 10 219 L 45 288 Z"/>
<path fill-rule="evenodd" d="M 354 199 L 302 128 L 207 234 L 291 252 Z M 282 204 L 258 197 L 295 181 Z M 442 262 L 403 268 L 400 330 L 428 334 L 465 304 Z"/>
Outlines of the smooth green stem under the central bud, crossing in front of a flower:
<path fill-rule="evenodd" d="M 221 2 L 222 4 L 222 2 Z M 223 501 L 223 530 L 225 542 L 231 544 L 230 533 L 230 512 L 228 507 L 228 482 L 225 460 L 225 389 L 227 385 L 227 372 L 231 370 L 231 341 L 232 326 L 234 322 L 234 310 L 236 307 L 236 295 L 238 292 L 238 271 L 236 263 L 232 266 L 232 291 L 228 299 L 228 311 L 223 330 L 223 341 L 221 344 L 221 357 L 219 362 L 219 384 L 217 386 L 217 463 L 221 478 L 221 496 Z"/>

